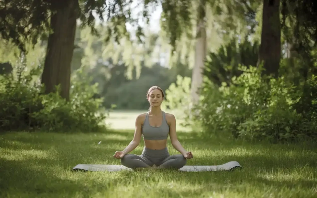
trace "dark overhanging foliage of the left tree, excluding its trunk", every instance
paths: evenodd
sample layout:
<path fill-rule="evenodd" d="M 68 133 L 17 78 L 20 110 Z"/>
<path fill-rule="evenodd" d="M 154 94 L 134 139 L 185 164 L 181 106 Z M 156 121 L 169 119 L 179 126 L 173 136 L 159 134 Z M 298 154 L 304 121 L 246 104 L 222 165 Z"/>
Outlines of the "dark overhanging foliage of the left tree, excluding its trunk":
<path fill-rule="evenodd" d="M 96 18 L 101 22 L 110 22 L 108 32 L 114 35 L 118 41 L 122 36 L 130 36 L 125 24 L 137 24 L 137 37 L 142 40 L 142 28 L 138 25 L 139 14 L 149 22 L 150 6 L 162 5 L 165 21 L 163 28 L 169 31 L 169 39 L 172 45 L 179 38 L 181 32 L 190 25 L 189 10 L 190 0 L 2 0 L 0 2 L 0 31 L 5 40 L 12 41 L 22 51 L 26 51 L 25 43 L 35 44 L 38 38 L 47 37 L 51 31 L 49 18 L 57 9 L 65 6 L 70 1 L 78 1 L 80 14 L 78 19 L 81 26 L 89 26 L 93 34 L 98 34 L 95 28 Z M 136 4 L 140 13 L 132 16 L 133 5 Z M 105 20 L 106 18 L 106 20 Z M 123 27 L 120 29 L 120 27 Z M 106 39 L 107 41 L 107 39 Z"/>

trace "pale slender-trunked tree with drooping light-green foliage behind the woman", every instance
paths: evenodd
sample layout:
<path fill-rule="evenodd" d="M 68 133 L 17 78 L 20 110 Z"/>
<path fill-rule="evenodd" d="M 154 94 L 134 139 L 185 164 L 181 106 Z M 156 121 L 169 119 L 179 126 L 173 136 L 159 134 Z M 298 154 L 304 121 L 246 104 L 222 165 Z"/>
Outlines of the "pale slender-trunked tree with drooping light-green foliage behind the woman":
<path fill-rule="evenodd" d="M 238 26 L 236 22 L 239 21 L 241 23 L 245 20 L 244 18 L 246 15 L 250 15 L 250 13 L 252 15 L 252 12 L 254 12 L 252 8 L 256 7 L 256 4 L 258 4 L 253 1 L 251 1 L 250 5 L 241 2 L 234 4 L 230 3 L 231 1 L 215 3 L 214 1 L 207 0 L 200 0 L 198 2 L 166 0 L 162 3 L 163 13 L 161 16 L 161 26 L 163 31 L 161 31 L 160 38 L 158 39 L 161 41 L 159 45 L 166 48 L 166 43 L 164 43 L 164 41 L 167 41 L 171 46 L 170 65 L 175 65 L 179 60 L 179 57 L 181 57 L 181 62 L 183 63 L 188 63 L 190 61 L 189 65 L 193 67 L 191 97 L 194 104 L 197 103 L 199 99 L 199 88 L 203 82 L 203 68 L 206 53 L 210 48 L 215 50 L 219 45 L 218 43 L 221 43 L 219 40 L 222 39 L 218 39 L 218 41 L 216 41 L 217 44 L 215 42 L 207 42 L 210 38 L 215 41 L 215 38 L 219 35 L 215 28 L 212 27 L 213 21 L 216 20 L 218 24 L 226 26 L 223 29 L 227 28 L 228 30 L 228 27 L 230 27 L 231 29 L 227 31 L 227 34 L 236 36 L 235 33 L 237 31 L 235 28 L 237 29 Z M 226 6 L 227 8 L 225 8 Z M 236 8 L 240 10 L 238 15 L 233 14 L 235 13 L 234 11 L 237 10 Z M 179 10 L 181 10 L 181 12 Z M 215 14 L 206 15 L 206 13 L 210 12 L 215 12 Z M 233 17 L 233 15 L 236 17 Z M 249 18 L 252 18 L 252 16 Z M 245 31 L 245 25 L 245 23 L 240 25 L 239 33 Z M 107 28 L 109 29 L 108 32 L 113 32 L 113 26 L 110 25 L 107 26 Z M 196 31 L 192 31 L 192 29 L 195 29 Z M 144 40 L 145 39 L 143 39 L 143 41 Z M 121 43 L 123 43 L 122 46 L 113 46 L 113 42 L 109 43 L 110 44 L 106 44 L 107 47 L 105 49 L 108 56 L 111 55 L 112 51 L 116 51 L 117 53 L 119 50 L 122 50 L 120 48 L 123 48 L 124 46 L 125 54 L 128 54 L 125 56 L 126 58 L 124 58 L 124 61 L 128 65 L 134 64 L 131 59 L 135 58 L 138 49 L 137 47 L 142 46 L 142 48 L 144 48 L 144 43 L 135 44 L 132 41 L 126 40 L 126 38 L 121 40 Z M 209 45 L 208 43 L 212 43 L 212 45 Z"/>

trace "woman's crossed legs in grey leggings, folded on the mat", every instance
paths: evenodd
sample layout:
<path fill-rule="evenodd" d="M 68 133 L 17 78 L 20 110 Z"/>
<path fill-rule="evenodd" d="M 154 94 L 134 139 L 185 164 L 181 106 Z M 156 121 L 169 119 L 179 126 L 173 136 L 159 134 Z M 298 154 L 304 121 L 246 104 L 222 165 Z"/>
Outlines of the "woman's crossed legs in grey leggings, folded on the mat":
<path fill-rule="evenodd" d="M 121 164 L 130 168 L 148 168 L 152 167 L 155 163 L 158 168 L 166 168 L 166 169 L 180 169 L 182 168 L 187 160 L 182 154 L 172 155 L 164 158 L 163 160 L 155 160 L 157 162 L 153 162 L 145 156 L 135 155 L 135 154 L 127 154 L 121 158 Z"/>

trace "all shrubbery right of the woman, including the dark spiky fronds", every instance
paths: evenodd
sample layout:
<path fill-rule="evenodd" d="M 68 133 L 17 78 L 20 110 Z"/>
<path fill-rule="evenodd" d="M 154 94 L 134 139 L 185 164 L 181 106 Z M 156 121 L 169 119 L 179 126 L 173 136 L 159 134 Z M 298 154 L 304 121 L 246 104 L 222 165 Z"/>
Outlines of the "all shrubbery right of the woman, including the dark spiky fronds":
<path fill-rule="evenodd" d="M 263 75 L 262 67 L 254 67 L 256 48 L 257 43 L 233 41 L 209 54 L 194 117 L 188 109 L 190 83 L 185 78 L 179 77 L 177 85 L 166 91 L 167 105 L 181 113 L 184 125 L 207 137 L 229 133 L 246 141 L 316 140 L 316 63 L 303 76 L 298 59 L 296 67 L 291 67 L 292 59 L 283 59 L 276 79 Z"/>

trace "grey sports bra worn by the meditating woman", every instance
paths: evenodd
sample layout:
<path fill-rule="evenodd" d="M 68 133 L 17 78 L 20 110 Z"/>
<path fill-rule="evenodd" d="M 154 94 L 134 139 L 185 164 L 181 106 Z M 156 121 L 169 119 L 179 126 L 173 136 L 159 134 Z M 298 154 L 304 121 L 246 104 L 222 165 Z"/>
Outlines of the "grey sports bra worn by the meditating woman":
<path fill-rule="evenodd" d="M 163 112 L 162 124 L 158 127 L 151 126 L 149 123 L 149 112 L 146 113 L 144 123 L 142 125 L 143 138 L 147 140 L 163 140 L 167 139 L 170 132 L 170 126 L 167 124 L 165 112 Z"/>

